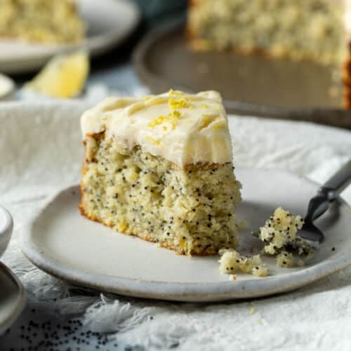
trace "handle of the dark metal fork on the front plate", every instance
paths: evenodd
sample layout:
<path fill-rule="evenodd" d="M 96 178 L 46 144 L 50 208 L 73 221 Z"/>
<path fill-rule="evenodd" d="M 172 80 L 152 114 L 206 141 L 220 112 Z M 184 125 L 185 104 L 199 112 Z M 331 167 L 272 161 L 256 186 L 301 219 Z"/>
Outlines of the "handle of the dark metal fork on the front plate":
<path fill-rule="evenodd" d="M 337 199 L 350 182 L 351 159 L 319 188 L 317 195 L 311 199 L 308 205 L 305 220 L 312 222 L 322 216 L 328 210 L 331 202 Z"/>

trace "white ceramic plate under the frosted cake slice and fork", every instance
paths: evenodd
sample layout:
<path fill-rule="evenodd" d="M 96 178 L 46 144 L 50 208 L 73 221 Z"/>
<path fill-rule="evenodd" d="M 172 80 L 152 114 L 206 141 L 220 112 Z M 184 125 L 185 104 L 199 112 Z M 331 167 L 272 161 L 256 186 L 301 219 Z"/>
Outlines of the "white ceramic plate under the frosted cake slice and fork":
<path fill-rule="evenodd" d="M 244 184 L 238 218 L 249 222 L 241 232 L 241 250 L 260 248 L 249 232 L 263 225 L 274 208 L 303 214 L 317 185 L 283 171 L 237 170 Z M 326 241 L 305 267 L 281 269 L 265 258 L 271 275 L 256 278 L 237 274 L 237 281 L 218 272 L 218 256 L 177 256 L 136 237 L 82 217 L 79 188 L 58 194 L 22 237 L 22 251 L 42 270 L 73 284 L 127 296 L 182 301 L 252 298 L 289 291 L 351 264 L 351 210 L 340 203 L 318 224 Z M 336 247 L 332 251 L 332 247 Z"/>

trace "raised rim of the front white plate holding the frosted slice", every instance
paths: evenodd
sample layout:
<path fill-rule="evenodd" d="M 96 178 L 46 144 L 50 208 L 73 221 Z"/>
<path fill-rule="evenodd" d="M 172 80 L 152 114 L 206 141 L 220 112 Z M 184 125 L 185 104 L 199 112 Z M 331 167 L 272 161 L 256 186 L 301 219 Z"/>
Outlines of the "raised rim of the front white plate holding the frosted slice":
<path fill-rule="evenodd" d="M 288 171 L 274 168 L 237 168 L 240 171 L 255 170 L 262 172 L 284 173 L 285 176 L 293 176 L 302 179 L 303 181 L 316 186 L 312 180 L 303 176 L 298 176 Z M 229 280 L 224 282 L 158 282 L 158 281 L 143 281 L 141 279 L 125 278 L 110 276 L 107 274 L 91 273 L 84 270 L 79 270 L 69 265 L 60 263 L 55 258 L 51 258 L 44 249 L 40 248 L 34 241 L 31 240 L 32 226 L 35 220 L 41 215 L 42 211 L 51 204 L 56 197 L 62 192 L 72 191 L 77 189 L 77 185 L 66 187 L 55 193 L 53 197 L 46 201 L 46 204 L 41 208 L 41 211 L 34 216 L 32 220 L 25 226 L 20 234 L 20 249 L 22 253 L 39 269 L 44 270 L 48 274 L 64 279 L 65 281 L 84 286 L 89 289 L 105 291 L 109 293 L 117 293 L 124 296 L 132 296 L 137 298 L 152 298 L 157 300 L 173 300 L 183 302 L 211 302 L 223 300 L 236 300 L 244 298 L 258 298 L 270 296 L 277 293 L 284 293 L 298 289 L 312 282 L 315 282 L 329 274 L 338 272 L 351 265 L 351 258 L 347 256 L 345 251 L 339 253 L 329 260 L 324 260 L 311 267 L 306 267 L 303 270 L 284 274 L 275 279 L 274 276 L 265 277 L 264 279 L 249 279 L 237 280 L 233 289 L 233 282 Z M 342 199 L 339 199 L 343 206 L 346 206 L 349 211 L 351 207 Z M 347 259 L 348 258 L 348 259 Z M 293 277 L 293 279 L 291 279 Z M 292 282 L 293 280 L 293 282 Z M 92 282 L 93 281 L 93 282 Z M 260 282 L 260 291 L 255 287 Z"/>

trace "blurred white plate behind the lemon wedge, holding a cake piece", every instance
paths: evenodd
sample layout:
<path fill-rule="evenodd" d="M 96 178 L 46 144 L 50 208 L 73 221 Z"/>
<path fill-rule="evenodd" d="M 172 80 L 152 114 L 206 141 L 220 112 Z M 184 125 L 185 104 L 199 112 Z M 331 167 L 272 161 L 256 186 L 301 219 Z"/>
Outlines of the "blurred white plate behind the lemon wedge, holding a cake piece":
<path fill-rule="evenodd" d="M 80 45 L 28 44 L 0 41 L 0 72 L 22 73 L 39 69 L 51 56 L 79 46 L 91 55 L 104 53 L 119 44 L 138 25 L 140 11 L 127 0 L 78 0 L 79 12 L 86 22 L 86 41 Z"/>

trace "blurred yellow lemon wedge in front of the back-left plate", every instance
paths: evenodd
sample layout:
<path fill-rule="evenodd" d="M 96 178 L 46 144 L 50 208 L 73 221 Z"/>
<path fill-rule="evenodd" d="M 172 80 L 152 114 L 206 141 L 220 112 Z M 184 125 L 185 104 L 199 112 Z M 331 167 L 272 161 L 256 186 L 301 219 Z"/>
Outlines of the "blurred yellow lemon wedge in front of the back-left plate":
<path fill-rule="evenodd" d="M 74 51 L 52 58 L 25 88 L 55 98 L 73 98 L 84 87 L 89 72 L 86 51 Z"/>

